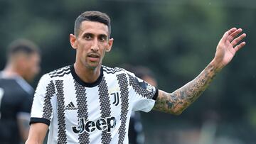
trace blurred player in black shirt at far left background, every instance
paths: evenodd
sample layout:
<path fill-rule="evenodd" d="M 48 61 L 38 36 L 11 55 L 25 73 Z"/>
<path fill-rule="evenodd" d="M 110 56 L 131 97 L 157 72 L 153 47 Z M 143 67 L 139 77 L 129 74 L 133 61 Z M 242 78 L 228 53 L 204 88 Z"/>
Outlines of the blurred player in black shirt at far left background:
<path fill-rule="evenodd" d="M 25 143 L 33 102 L 33 80 L 40 67 L 38 46 L 29 40 L 9 45 L 7 64 L 0 72 L 0 143 Z"/>

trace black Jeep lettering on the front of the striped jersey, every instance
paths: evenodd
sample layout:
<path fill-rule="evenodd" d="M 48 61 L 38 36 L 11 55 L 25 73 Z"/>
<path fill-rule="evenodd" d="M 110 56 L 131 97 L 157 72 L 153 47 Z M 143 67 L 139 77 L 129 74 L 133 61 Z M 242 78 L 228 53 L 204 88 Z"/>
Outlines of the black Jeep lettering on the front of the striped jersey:
<path fill-rule="evenodd" d="M 85 118 L 79 118 L 78 126 L 73 126 L 73 132 L 81 134 L 83 132 L 93 132 L 96 130 L 105 131 L 107 130 L 107 133 L 110 133 L 111 128 L 114 128 L 116 126 L 117 120 L 116 118 L 107 117 L 107 118 L 99 118 L 97 121 L 86 121 Z"/>

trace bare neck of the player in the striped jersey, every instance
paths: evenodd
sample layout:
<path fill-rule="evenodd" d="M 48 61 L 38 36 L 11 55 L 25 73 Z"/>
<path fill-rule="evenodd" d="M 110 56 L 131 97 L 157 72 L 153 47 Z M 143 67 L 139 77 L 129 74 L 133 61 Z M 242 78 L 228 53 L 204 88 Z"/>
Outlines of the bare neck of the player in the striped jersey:
<path fill-rule="evenodd" d="M 95 69 L 91 69 L 83 65 L 79 65 L 77 62 L 75 62 L 74 65 L 75 73 L 78 74 L 78 77 L 86 83 L 96 82 L 96 80 L 100 77 L 100 67 L 101 65 Z"/>

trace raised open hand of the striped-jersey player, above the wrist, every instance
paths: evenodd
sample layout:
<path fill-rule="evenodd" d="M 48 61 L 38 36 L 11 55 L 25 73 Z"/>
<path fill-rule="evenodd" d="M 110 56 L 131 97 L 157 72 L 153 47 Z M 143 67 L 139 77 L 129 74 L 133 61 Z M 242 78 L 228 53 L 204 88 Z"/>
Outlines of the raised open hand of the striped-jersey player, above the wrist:
<path fill-rule="evenodd" d="M 238 52 L 240 48 L 245 46 L 245 42 L 240 43 L 240 41 L 246 37 L 246 34 L 242 33 L 240 35 L 240 33 L 242 33 L 241 28 L 231 28 L 229 31 L 225 32 L 223 38 L 220 39 L 213 59 L 220 69 L 228 65 L 233 59 L 235 52 Z"/>

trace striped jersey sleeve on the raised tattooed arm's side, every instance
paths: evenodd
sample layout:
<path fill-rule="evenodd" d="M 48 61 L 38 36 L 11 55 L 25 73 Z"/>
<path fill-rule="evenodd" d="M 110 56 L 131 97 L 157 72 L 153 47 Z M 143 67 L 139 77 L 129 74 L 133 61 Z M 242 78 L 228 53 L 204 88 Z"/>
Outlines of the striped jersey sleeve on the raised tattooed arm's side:
<path fill-rule="evenodd" d="M 132 96 L 132 110 L 151 111 L 158 96 L 158 89 L 144 80 L 139 79 L 132 73 L 128 74 L 128 77 L 129 85 L 131 86 L 129 93 Z"/>

